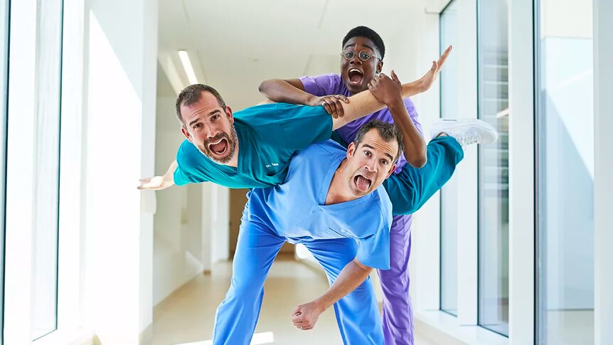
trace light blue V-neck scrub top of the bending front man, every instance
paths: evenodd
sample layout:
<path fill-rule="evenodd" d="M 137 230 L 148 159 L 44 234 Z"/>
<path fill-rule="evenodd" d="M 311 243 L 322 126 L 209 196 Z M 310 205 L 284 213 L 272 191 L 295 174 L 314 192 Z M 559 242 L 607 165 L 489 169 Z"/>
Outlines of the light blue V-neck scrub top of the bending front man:
<path fill-rule="evenodd" d="M 247 194 L 244 220 L 263 223 L 290 243 L 353 238 L 360 262 L 388 270 L 392 204 L 383 186 L 356 200 L 325 205 L 332 177 L 346 153 L 331 140 L 297 153 L 284 184 Z"/>

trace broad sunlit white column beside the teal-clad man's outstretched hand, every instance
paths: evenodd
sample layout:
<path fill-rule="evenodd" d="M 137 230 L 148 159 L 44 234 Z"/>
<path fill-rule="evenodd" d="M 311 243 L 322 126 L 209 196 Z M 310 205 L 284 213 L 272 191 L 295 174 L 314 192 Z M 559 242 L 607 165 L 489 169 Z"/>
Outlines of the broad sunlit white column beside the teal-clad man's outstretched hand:
<path fill-rule="evenodd" d="M 102 344 L 138 344 L 152 321 L 156 0 L 87 3 L 85 311 Z M 145 332 L 146 334 L 146 332 Z"/>

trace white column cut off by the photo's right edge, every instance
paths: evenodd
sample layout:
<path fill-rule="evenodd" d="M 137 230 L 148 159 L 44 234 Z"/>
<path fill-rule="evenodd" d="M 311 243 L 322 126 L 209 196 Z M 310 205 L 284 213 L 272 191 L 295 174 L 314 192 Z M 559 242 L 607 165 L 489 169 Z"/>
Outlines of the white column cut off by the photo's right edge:
<path fill-rule="evenodd" d="M 613 2 L 594 0 L 595 344 L 613 344 Z"/>

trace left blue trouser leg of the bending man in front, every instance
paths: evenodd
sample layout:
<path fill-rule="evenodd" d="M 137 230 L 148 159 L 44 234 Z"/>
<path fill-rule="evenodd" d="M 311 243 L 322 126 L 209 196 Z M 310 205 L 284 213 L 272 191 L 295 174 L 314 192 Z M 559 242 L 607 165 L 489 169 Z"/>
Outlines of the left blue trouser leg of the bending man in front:
<path fill-rule="evenodd" d="M 242 220 L 230 290 L 217 308 L 213 344 L 249 344 L 262 307 L 264 280 L 284 238 L 270 228 Z"/>

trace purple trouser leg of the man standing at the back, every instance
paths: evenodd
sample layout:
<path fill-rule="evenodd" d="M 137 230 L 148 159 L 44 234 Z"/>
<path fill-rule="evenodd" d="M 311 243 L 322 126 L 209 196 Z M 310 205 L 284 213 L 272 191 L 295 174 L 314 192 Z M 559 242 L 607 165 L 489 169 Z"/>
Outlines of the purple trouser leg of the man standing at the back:
<path fill-rule="evenodd" d="M 409 296 L 410 226 L 410 216 L 394 216 L 390 230 L 390 269 L 377 270 L 383 288 L 386 345 L 413 344 L 413 311 Z"/>

